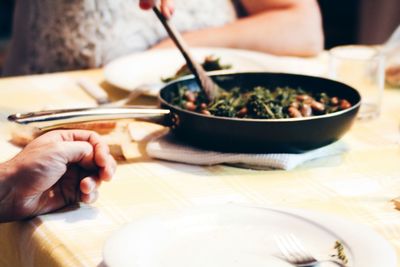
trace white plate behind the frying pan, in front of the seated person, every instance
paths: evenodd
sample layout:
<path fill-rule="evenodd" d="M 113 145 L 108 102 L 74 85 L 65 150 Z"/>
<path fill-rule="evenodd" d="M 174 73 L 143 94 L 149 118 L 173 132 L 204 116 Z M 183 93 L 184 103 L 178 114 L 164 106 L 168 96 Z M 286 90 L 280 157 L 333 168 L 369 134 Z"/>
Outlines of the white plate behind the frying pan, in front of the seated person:
<path fill-rule="evenodd" d="M 326 66 L 320 58 L 278 57 L 265 53 L 227 48 L 192 48 L 193 56 L 203 62 L 208 55 L 232 66 L 232 71 L 270 71 L 322 76 Z M 131 91 L 143 84 L 153 86 L 150 95 L 157 95 L 161 78 L 169 77 L 184 64 L 177 49 L 160 49 L 136 53 L 116 59 L 104 67 L 108 83 Z"/>

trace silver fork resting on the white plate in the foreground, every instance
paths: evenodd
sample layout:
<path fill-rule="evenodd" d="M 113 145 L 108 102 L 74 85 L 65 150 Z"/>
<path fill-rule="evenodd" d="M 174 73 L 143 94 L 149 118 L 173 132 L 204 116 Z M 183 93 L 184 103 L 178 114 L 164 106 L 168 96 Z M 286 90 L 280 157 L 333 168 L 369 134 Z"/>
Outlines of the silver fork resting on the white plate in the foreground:
<path fill-rule="evenodd" d="M 317 260 L 294 234 L 275 236 L 275 242 L 284 259 L 297 267 L 314 267 L 323 262 L 332 262 L 337 266 L 346 267 L 345 264 L 333 259 Z"/>

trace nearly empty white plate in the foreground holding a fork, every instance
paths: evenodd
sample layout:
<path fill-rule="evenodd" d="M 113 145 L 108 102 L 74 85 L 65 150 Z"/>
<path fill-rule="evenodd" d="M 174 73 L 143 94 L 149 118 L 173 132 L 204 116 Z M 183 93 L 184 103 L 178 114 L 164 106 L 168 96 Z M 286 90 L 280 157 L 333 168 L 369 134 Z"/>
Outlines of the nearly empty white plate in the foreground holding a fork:
<path fill-rule="evenodd" d="M 319 259 L 329 258 L 340 240 L 347 266 L 396 266 L 392 247 L 363 225 L 304 210 L 239 205 L 132 222 L 109 238 L 103 256 L 109 267 L 284 267 L 290 265 L 280 259 L 275 237 L 289 233 Z"/>

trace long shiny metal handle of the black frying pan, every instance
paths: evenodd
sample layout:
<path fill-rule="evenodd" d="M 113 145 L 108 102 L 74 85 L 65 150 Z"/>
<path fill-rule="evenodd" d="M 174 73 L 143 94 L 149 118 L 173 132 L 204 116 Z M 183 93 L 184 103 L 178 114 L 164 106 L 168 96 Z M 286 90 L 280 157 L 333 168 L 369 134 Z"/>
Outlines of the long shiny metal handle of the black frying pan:
<path fill-rule="evenodd" d="M 62 128 L 64 125 L 117 120 L 128 118 L 152 118 L 169 114 L 168 109 L 149 108 L 148 106 L 126 106 L 113 108 L 76 108 L 76 109 L 57 109 L 24 114 L 13 114 L 8 116 L 8 120 L 21 125 L 30 125 L 39 130 L 51 130 Z"/>

